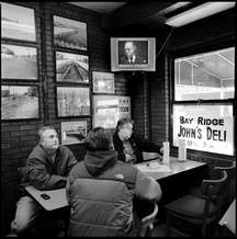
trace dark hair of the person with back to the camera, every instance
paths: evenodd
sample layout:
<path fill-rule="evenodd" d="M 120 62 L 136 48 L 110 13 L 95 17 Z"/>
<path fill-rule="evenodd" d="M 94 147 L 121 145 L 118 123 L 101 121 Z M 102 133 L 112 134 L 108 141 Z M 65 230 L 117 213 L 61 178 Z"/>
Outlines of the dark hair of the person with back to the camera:
<path fill-rule="evenodd" d="M 91 129 L 86 137 L 86 147 L 89 151 L 105 151 L 112 146 L 111 134 L 105 132 L 103 127 Z"/>

